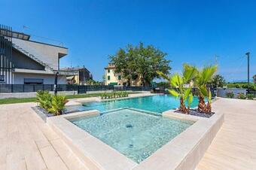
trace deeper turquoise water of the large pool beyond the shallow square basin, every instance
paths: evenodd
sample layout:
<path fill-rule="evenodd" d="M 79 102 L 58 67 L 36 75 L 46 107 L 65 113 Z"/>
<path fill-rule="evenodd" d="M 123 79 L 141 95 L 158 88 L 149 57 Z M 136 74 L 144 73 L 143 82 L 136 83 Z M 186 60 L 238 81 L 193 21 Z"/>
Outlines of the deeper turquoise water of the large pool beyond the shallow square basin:
<path fill-rule="evenodd" d="M 194 97 L 194 101 L 190 108 L 197 107 L 198 99 Z M 170 95 L 157 95 L 157 96 L 147 96 L 132 99 L 120 99 L 109 102 L 89 102 L 84 103 L 83 106 L 73 107 L 78 111 L 87 110 L 99 110 L 99 111 L 109 111 L 116 108 L 138 108 L 145 111 L 153 111 L 157 113 L 162 113 L 163 111 L 168 111 L 170 109 L 179 107 L 179 99 Z M 71 108 L 69 108 L 71 109 Z"/>

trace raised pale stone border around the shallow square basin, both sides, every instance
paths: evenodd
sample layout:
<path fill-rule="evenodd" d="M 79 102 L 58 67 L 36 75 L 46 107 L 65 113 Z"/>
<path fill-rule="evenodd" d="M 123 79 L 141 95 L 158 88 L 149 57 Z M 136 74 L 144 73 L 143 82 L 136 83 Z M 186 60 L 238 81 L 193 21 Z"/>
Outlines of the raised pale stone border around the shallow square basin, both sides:
<path fill-rule="evenodd" d="M 100 114 L 97 110 L 47 117 L 47 124 L 90 169 L 155 170 L 194 169 L 224 122 L 224 114 L 210 118 L 163 112 L 163 117 L 193 120 L 195 123 L 137 164 L 98 138 L 75 126 L 69 119 Z"/>

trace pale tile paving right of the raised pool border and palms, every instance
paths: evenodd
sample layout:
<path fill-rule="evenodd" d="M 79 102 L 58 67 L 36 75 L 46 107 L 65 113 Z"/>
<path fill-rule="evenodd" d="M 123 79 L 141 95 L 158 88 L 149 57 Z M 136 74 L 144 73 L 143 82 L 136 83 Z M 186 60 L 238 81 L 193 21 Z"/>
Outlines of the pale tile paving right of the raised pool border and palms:
<path fill-rule="evenodd" d="M 256 101 L 219 99 L 212 107 L 224 124 L 197 170 L 256 169 Z"/>

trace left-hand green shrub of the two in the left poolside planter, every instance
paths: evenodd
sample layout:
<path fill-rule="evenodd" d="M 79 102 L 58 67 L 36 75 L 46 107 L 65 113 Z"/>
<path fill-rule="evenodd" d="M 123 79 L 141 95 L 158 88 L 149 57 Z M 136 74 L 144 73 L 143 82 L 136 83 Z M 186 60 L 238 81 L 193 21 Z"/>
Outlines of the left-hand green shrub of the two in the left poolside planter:
<path fill-rule="evenodd" d="M 36 100 L 41 108 L 44 108 L 45 110 L 51 108 L 52 96 L 48 91 L 38 91 Z"/>

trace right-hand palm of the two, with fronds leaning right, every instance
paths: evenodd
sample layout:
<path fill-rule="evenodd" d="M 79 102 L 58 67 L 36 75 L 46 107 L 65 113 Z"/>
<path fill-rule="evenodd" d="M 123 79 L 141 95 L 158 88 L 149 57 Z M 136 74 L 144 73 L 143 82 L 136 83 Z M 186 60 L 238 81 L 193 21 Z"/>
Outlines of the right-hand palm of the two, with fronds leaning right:
<path fill-rule="evenodd" d="M 212 77 L 217 71 L 217 68 L 218 68 L 217 65 L 209 65 L 204 67 L 202 70 L 198 71 L 195 83 L 199 91 L 199 95 L 198 95 L 199 103 L 197 107 L 197 110 L 199 112 L 206 112 L 206 113 L 212 112 L 212 107 L 211 107 L 212 93 L 210 89 L 207 87 L 207 83 L 209 83 L 212 80 Z M 205 97 L 208 100 L 207 105 L 204 101 Z"/>

